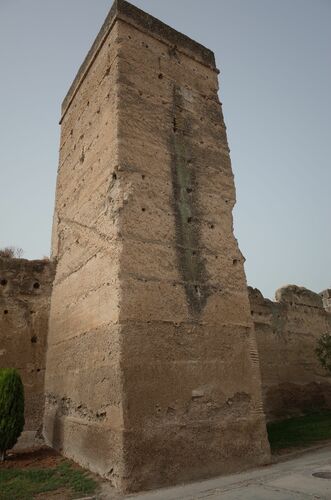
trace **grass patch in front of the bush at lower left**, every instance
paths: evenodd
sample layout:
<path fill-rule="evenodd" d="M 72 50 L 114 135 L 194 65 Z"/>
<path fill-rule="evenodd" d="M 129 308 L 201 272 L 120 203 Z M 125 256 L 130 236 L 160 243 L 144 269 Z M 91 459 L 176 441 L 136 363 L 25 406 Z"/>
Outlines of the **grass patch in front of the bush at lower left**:
<path fill-rule="evenodd" d="M 2 469 L 0 500 L 33 500 L 38 493 L 66 488 L 72 498 L 94 493 L 96 481 L 88 473 L 66 461 L 48 469 Z"/>

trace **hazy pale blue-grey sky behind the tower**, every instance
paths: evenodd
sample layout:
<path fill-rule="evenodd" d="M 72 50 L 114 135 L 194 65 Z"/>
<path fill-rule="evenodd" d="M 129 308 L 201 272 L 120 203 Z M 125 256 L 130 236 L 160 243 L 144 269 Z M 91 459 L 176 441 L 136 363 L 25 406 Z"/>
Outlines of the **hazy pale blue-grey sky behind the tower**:
<path fill-rule="evenodd" d="M 249 284 L 331 286 L 331 0 L 133 0 L 214 50 Z M 0 0 L 0 247 L 49 254 L 60 103 L 108 0 Z"/>

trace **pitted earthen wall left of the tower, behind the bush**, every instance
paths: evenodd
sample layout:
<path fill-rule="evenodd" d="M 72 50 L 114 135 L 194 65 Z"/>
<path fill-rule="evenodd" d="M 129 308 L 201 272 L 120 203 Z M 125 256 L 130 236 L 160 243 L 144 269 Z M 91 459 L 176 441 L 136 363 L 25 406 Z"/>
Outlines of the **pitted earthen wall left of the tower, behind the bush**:
<path fill-rule="evenodd" d="M 0 258 L 0 368 L 22 376 L 27 445 L 41 435 L 53 268 L 44 260 Z"/>

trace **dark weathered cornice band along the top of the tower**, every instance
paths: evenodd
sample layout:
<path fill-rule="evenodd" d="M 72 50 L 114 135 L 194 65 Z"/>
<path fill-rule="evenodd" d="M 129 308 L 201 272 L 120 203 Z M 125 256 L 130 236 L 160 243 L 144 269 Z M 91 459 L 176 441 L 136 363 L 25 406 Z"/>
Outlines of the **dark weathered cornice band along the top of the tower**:
<path fill-rule="evenodd" d="M 125 0 L 115 0 L 62 102 L 60 124 L 117 20 L 126 22 L 143 33 L 148 33 L 153 38 L 166 43 L 172 48 L 175 47 L 178 52 L 182 52 L 186 56 L 218 73 L 215 64 L 215 56 L 210 49 L 195 42 L 188 36 L 183 35 Z"/>

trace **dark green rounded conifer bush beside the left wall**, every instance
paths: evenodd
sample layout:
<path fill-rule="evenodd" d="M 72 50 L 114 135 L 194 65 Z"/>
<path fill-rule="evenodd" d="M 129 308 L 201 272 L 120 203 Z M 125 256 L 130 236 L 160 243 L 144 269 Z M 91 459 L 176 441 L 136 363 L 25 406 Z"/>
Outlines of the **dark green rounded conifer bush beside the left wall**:
<path fill-rule="evenodd" d="M 24 427 L 24 388 L 13 368 L 0 369 L 0 460 L 5 460 Z"/>

